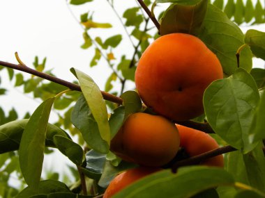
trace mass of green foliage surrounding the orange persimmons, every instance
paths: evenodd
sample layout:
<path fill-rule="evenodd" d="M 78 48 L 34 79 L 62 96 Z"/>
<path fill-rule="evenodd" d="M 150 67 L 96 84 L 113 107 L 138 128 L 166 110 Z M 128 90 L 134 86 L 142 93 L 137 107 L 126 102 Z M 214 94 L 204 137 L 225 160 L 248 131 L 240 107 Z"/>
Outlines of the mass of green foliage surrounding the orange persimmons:
<path fill-rule="evenodd" d="M 68 3 L 71 8 L 91 1 Z M 131 8 L 125 6 L 123 13 L 118 13 L 116 1 L 105 3 L 119 17 L 124 33 L 103 40 L 98 29 L 108 31 L 114 24 L 97 22 L 91 11 L 80 16 L 80 36 L 84 40 L 81 48 L 95 51 L 90 66 L 100 67 L 104 60 L 112 69 L 105 92 L 91 76 L 74 68 L 70 71 L 77 78 L 73 84 L 79 84 L 81 93 L 61 83 L 47 83 L 44 77 L 32 75 L 26 79 L 21 72 L 0 66 L 0 75 L 7 72 L 14 87 L 42 101 L 32 115 L 24 116 L 17 115 L 15 109 L 4 112 L 4 104 L 0 104 L 0 197 L 96 197 L 103 194 L 116 174 L 135 167 L 112 154 L 109 142 L 128 115 L 152 113 L 142 105 L 137 92 L 126 90 L 126 85 L 134 83 L 137 62 L 146 47 L 160 35 L 175 32 L 196 35 L 220 59 L 225 78 L 214 81 L 204 92 L 206 121 L 219 142 L 237 151 L 224 154 L 223 170 L 200 166 L 181 167 L 176 174 L 163 170 L 130 185 L 116 197 L 265 197 L 265 72 L 252 68 L 253 56 L 265 60 L 265 33 L 250 28 L 244 34 L 239 26 L 264 23 L 262 3 L 146 0 L 151 15 L 146 15 L 138 3 Z M 157 30 L 151 20 L 156 5 L 162 3 L 170 5 L 160 10 Z M 95 29 L 99 34 L 93 38 L 91 31 Z M 117 53 L 119 44 L 126 41 L 133 49 L 130 57 L 122 51 Z M 46 58 L 40 61 L 36 56 L 33 68 L 54 76 L 51 69 L 46 69 Z M 6 91 L 0 79 L 0 95 Z M 122 104 L 116 96 L 121 96 Z M 51 110 L 58 115 L 53 124 L 49 123 Z M 75 176 L 79 174 L 75 183 L 59 181 L 56 175 L 55 179 L 41 176 L 44 155 L 50 152 L 47 147 L 58 149 L 76 166 L 70 167 Z M 19 187 L 10 185 L 13 175 L 20 179 Z"/>

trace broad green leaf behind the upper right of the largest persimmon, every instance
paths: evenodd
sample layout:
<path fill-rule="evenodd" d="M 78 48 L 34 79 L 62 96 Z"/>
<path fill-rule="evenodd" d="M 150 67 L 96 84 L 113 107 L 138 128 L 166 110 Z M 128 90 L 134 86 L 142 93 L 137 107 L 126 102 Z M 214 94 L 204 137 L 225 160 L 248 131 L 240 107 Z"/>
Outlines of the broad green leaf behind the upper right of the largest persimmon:
<path fill-rule="evenodd" d="M 223 72 L 229 76 L 237 69 L 236 51 L 244 44 L 244 35 L 233 22 L 231 22 L 225 13 L 221 10 L 208 5 L 208 10 L 202 32 L 198 37 L 218 56 L 222 64 Z M 241 51 L 240 67 L 250 72 L 252 67 L 252 53 L 249 47 Z"/>

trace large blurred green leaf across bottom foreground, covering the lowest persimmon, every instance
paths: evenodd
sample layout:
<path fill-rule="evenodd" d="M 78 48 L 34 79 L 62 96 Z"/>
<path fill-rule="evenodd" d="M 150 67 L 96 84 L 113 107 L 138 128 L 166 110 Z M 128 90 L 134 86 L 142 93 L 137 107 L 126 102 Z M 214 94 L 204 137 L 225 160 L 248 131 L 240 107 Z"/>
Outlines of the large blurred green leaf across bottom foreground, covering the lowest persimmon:
<path fill-rule="evenodd" d="M 191 183 L 196 185 L 190 185 Z M 164 170 L 146 176 L 118 192 L 115 198 L 165 197 L 165 195 L 185 198 L 220 185 L 234 185 L 233 177 L 225 170 L 215 167 L 183 167 L 179 168 L 176 174 Z"/>

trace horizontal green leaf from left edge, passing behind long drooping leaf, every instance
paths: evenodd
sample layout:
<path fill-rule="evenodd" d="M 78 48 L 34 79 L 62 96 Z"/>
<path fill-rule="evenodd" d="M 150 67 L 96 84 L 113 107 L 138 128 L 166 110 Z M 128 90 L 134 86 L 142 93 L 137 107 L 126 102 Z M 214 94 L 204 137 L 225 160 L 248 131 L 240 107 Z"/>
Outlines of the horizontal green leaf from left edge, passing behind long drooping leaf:
<path fill-rule="evenodd" d="M 0 126 L 0 154 L 19 149 L 20 140 L 28 122 L 29 119 L 17 119 Z M 53 142 L 54 135 L 70 138 L 65 131 L 49 123 L 45 139 L 46 147 L 55 147 Z"/>

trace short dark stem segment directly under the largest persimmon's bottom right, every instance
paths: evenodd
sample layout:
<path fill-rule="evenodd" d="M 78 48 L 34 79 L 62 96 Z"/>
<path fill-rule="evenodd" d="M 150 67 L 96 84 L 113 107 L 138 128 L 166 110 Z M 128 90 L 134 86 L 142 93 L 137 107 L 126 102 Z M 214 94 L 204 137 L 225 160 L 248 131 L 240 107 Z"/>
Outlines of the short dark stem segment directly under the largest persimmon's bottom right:
<path fill-rule="evenodd" d="M 197 129 L 199 131 L 204 131 L 205 133 L 215 133 L 208 122 L 202 123 L 202 122 L 194 122 L 188 120 L 188 121 L 174 121 L 174 123 L 181 124 L 183 126 L 187 126 L 192 129 Z"/>

